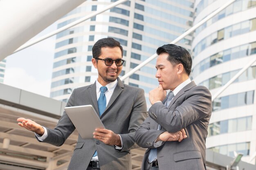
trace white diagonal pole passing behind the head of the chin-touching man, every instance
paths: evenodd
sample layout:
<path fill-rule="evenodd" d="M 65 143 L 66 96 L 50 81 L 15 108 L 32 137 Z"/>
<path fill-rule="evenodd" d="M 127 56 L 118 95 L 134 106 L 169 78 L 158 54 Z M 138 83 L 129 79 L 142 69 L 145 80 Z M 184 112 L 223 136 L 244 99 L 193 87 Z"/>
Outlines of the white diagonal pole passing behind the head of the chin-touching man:
<path fill-rule="evenodd" d="M 193 32 L 195 29 L 197 29 L 200 25 L 204 24 L 204 22 L 207 22 L 209 19 L 211 19 L 214 15 L 216 15 L 217 13 L 219 13 L 220 11 L 222 11 L 223 9 L 225 9 L 227 6 L 229 6 L 230 4 L 232 4 L 234 1 L 236 0 L 230 0 L 228 1 L 226 4 L 224 4 L 222 7 L 220 7 L 219 9 L 217 9 L 216 11 L 214 11 L 213 13 L 211 13 L 210 15 L 208 15 L 206 18 L 204 18 L 203 20 L 201 20 L 200 22 L 198 22 L 197 24 L 195 24 L 193 27 L 191 27 L 191 29 L 187 30 L 186 32 L 184 32 L 182 35 L 180 35 L 178 38 L 176 38 L 175 40 L 173 40 L 170 44 L 175 44 L 177 42 L 179 42 L 180 40 L 182 40 L 184 37 L 186 37 L 186 35 L 189 35 L 191 32 Z M 133 68 L 131 71 L 129 71 L 127 74 L 125 74 L 123 77 L 121 77 L 121 80 L 123 81 L 124 79 L 128 78 L 130 75 L 132 75 L 133 73 L 135 73 L 136 71 L 138 71 L 141 67 L 145 66 L 146 64 L 148 64 L 151 60 L 153 60 L 155 57 L 157 57 L 157 54 L 155 53 L 154 55 L 152 55 L 151 57 L 149 57 L 147 60 L 145 60 L 144 62 L 142 62 L 141 64 L 139 64 L 137 67 Z"/>

